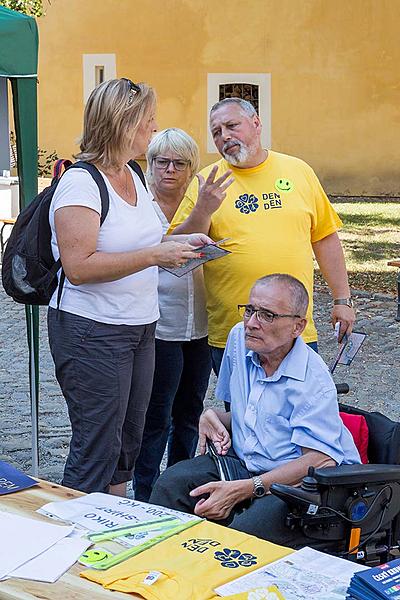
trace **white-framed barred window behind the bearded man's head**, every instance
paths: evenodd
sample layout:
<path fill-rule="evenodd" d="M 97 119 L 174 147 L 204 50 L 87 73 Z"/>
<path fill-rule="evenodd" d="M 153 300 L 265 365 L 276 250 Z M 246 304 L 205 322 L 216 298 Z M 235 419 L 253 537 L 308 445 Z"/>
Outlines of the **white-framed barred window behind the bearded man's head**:
<path fill-rule="evenodd" d="M 256 109 L 263 123 L 261 143 L 271 147 L 271 75 L 270 73 L 209 73 L 207 85 L 207 152 L 216 148 L 209 130 L 211 107 L 224 98 L 243 98 Z"/>

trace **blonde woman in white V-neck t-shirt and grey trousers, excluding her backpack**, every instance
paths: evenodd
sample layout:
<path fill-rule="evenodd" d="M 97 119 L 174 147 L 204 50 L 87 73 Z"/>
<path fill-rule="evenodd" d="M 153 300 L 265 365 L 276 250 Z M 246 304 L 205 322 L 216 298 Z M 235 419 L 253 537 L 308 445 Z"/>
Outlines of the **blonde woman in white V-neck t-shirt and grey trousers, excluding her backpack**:
<path fill-rule="evenodd" d="M 184 264 L 208 241 L 164 236 L 138 166 L 127 164 L 146 152 L 155 111 L 145 84 L 114 79 L 95 88 L 77 158 L 105 184 L 107 215 L 101 224 L 100 188 L 84 168 L 66 171 L 50 209 L 53 254 L 66 277 L 48 313 L 72 427 L 63 484 L 85 492 L 125 495 L 151 394 L 158 267 Z"/>

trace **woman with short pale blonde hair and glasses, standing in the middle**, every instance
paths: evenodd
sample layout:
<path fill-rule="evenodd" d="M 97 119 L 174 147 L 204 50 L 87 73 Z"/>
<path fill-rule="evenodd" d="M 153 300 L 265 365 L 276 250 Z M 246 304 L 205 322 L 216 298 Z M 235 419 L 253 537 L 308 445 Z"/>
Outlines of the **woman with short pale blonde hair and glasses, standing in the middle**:
<path fill-rule="evenodd" d="M 199 168 L 197 144 L 181 129 L 165 129 L 150 142 L 147 164 L 165 233 Z M 153 391 L 133 483 L 135 498 L 143 501 L 160 474 L 167 441 L 168 466 L 194 456 L 211 371 L 202 268 L 179 278 L 160 269 L 158 293 Z"/>

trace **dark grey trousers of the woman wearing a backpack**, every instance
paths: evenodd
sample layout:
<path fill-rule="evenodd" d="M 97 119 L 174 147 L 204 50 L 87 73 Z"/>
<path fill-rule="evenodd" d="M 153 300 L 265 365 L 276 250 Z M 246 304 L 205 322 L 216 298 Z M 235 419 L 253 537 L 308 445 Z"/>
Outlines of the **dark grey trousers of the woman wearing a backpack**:
<path fill-rule="evenodd" d="M 48 331 L 72 427 L 62 483 L 107 492 L 132 478 L 140 451 L 155 323 L 108 325 L 49 308 Z"/>

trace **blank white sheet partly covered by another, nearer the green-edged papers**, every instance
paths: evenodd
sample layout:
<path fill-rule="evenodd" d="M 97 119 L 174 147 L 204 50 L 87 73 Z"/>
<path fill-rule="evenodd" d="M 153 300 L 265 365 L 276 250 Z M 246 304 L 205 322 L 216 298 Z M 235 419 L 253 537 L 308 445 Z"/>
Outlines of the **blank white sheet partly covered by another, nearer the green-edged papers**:
<path fill-rule="evenodd" d="M 39 556 L 18 567 L 8 577 L 54 583 L 78 560 L 91 543 L 87 539 L 66 537 Z"/>

